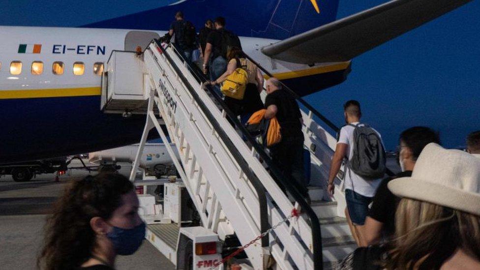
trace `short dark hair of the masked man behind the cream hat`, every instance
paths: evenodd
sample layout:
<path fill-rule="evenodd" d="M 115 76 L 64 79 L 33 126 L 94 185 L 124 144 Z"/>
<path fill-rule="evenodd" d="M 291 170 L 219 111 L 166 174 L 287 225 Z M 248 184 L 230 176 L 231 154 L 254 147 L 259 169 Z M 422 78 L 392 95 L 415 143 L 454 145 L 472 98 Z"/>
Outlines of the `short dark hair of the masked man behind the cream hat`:
<path fill-rule="evenodd" d="M 429 144 L 440 144 L 438 133 L 426 126 L 414 126 L 405 129 L 400 134 L 400 141 L 402 141 L 413 153 L 413 159 L 417 160 L 421 150 Z"/>

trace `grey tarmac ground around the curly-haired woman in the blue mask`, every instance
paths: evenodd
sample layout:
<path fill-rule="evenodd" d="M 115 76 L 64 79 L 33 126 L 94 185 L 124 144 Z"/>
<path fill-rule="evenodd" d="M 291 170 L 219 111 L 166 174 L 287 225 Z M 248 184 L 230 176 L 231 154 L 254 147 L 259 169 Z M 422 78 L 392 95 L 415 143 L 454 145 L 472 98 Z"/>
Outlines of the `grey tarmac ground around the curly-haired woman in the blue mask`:
<path fill-rule="evenodd" d="M 55 175 L 41 175 L 29 182 L 0 178 L 0 269 L 37 269 L 36 257 L 43 242 L 43 226 L 52 204 L 68 181 L 83 173 L 70 173 L 55 182 Z M 118 256 L 117 270 L 175 269 L 149 241 L 130 256 Z"/>

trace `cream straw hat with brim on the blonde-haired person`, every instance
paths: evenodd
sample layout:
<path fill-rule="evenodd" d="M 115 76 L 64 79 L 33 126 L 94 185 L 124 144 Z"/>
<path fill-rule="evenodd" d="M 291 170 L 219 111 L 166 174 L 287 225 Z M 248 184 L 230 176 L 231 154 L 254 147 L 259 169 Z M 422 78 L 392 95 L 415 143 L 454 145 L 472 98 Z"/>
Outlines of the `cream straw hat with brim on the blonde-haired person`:
<path fill-rule="evenodd" d="M 430 143 L 420 153 L 411 177 L 388 183 L 390 191 L 480 216 L 480 158 Z"/>

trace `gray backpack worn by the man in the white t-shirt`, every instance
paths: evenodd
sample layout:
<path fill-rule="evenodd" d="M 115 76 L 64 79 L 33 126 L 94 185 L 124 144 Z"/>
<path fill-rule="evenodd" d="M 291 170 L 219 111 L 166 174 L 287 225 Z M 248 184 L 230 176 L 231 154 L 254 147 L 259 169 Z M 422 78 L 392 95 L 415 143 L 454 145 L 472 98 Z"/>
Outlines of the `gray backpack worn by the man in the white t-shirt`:
<path fill-rule="evenodd" d="M 383 178 L 386 171 L 387 155 L 382 140 L 368 125 L 354 125 L 352 159 L 348 167 L 365 180 Z"/>

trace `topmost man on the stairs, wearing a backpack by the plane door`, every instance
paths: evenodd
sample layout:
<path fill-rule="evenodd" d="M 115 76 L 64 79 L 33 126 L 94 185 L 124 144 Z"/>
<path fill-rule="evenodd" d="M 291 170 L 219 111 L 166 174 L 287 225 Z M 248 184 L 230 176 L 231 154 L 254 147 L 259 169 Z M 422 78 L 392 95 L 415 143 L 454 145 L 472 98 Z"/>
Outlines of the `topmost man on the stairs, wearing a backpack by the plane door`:
<path fill-rule="evenodd" d="M 175 21 L 170 26 L 168 34 L 170 38 L 175 34 L 175 44 L 183 51 L 185 60 L 191 62 L 193 50 L 196 48 L 197 32 L 191 22 L 183 19 L 183 12 L 178 11 L 175 14 Z"/>

